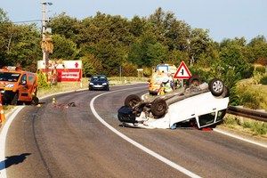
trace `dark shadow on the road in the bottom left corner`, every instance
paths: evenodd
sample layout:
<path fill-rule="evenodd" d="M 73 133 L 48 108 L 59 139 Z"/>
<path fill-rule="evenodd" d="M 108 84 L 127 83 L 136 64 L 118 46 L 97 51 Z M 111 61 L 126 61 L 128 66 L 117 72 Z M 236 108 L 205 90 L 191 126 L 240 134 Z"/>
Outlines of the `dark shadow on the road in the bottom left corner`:
<path fill-rule="evenodd" d="M 22 153 L 20 155 L 5 157 L 6 159 L 0 162 L 0 171 L 12 165 L 18 165 L 22 163 L 29 155 L 31 155 L 31 153 Z"/>

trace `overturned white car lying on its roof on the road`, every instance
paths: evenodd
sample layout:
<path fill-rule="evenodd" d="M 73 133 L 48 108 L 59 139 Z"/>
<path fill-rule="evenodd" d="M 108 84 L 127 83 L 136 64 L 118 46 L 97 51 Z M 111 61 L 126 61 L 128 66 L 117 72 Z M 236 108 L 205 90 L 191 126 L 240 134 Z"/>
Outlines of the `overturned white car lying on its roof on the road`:
<path fill-rule="evenodd" d="M 125 98 L 125 106 L 117 110 L 117 117 L 125 126 L 203 128 L 221 123 L 228 103 L 228 88 L 214 78 L 209 84 L 192 85 L 150 99 L 131 94 Z"/>

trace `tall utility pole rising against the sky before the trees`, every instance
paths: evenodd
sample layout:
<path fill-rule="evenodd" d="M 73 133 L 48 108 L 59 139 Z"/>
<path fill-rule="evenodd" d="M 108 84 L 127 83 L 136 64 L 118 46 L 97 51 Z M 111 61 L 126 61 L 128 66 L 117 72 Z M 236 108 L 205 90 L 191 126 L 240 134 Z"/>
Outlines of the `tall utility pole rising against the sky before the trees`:
<path fill-rule="evenodd" d="M 46 35 L 45 33 L 47 32 L 47 17 L 46 17 L 46 5 L 52 5 L 52 3 L 47 3 L 44 0 L 41 2 L 42 4 L 42 50 L 43 50 L 43 61 L 44 61 L 44 66 L 45 66 L 45 74 L 47 77 L 48 74 L 48 62 L 49 62 L 49 52 L 45 50 L 43 47 L 44 42 L 46 41 Z"/>

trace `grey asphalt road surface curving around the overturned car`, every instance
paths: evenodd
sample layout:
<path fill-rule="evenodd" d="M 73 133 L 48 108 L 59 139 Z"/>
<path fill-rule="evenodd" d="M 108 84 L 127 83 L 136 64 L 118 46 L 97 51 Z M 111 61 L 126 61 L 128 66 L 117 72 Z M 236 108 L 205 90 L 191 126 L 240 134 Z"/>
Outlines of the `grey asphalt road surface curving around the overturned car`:
<path fill-rule="evenodd" d="M 135 88 L 139 87 L 139 88 Z M 122 90 L 125 89 L 125 90 Z M 267 177 L 267 150 L 215 132 L 195 129 L 136 129 L 119 126 L 117 109 L 145 85 L 111 87 L 111 92 L 84 91 L 27 106 L 9 129 L 7 177 L 187 177 L 136 148 L 94 117 L 94 108 L 109 125 L 142 146 L 201 177 Z M 66 108 L 69 102 L 76 107 Z M 0 160 L 4 161 L 4 160 Z"/>

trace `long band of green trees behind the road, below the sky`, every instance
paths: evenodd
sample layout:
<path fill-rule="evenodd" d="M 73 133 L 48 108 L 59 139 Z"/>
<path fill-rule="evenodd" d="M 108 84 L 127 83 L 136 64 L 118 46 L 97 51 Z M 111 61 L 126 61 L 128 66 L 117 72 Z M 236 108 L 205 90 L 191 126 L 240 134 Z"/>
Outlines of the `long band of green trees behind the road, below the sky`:
<path fill-rule="evenodd" d="M 84 76 L 102 73 L 117 76 L 136 75 L 143 68 L 144 76 L 158 63 L 178 66 L 181 61 L 192 65 L 193 73 L 202 78 L 220 77 L 230 88 L 237 81 L 251 77 L 253 62 L 266 64 L 267 42 L 256 36 L 248 44 L 244 37 L 215 43 L 207 29 L 191 28 L 173 12 L 158 8 L 149 17 L 132 20 L 119 15 L 97 12 L 83 20 L 61 13 L 52 18 L 52 59 L 84 62 Z M 20 63 L 24 69 L 36 71 L 42 59 L 40 30 L 36 25 L 15 25 L 0 9 L 0 65 Z"/>

